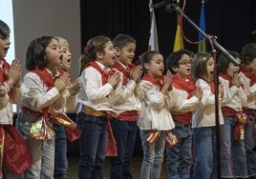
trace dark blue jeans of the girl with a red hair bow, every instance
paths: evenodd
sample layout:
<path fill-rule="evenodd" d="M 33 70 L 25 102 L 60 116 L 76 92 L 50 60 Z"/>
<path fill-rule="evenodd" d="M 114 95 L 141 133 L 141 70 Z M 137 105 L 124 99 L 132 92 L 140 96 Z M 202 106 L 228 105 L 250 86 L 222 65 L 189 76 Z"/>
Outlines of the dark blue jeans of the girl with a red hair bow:
<path fill-rule="evenodd" d="M 82 129 L 79 138 L 79 179 L 102 179 L 107 149 L 107 120 L 103 117 L 79 112 L 77 129 Z"/>

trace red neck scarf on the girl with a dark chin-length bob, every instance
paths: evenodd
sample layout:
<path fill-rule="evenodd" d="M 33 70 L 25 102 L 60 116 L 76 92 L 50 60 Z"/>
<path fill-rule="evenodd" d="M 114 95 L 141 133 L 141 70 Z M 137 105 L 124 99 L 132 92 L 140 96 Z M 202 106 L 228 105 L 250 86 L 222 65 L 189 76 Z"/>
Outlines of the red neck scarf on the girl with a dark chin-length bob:
<path fill-rule="evenodd" d="M 44 68 L 38 69 L 36 68 L 35 70 L 30 70 L 31 72 L 34 72 L 40 76 L 40 78 L 43 80 L 43 82 L 46 84 L 48 87 L 47 90 L 50 90 L 54 87 L 55 80 L 51 74 Z"/>

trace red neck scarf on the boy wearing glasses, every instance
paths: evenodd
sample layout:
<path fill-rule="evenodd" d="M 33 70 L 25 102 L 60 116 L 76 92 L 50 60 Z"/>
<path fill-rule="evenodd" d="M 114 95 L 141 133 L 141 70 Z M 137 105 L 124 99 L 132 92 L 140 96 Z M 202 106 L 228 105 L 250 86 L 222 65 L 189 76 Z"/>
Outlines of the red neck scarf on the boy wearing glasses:
<path fill-rule="evenodd" d="M 193 96 L 193 92 L 196 89 L 196 86 L 193 81 L 189 79 L 184 80 L 183 78 L 181 78 L 181 76 L 177 74 L 173 75 L 173 86 L 176 89 L 186 90 L 188 92 L 187 99 Z"/>

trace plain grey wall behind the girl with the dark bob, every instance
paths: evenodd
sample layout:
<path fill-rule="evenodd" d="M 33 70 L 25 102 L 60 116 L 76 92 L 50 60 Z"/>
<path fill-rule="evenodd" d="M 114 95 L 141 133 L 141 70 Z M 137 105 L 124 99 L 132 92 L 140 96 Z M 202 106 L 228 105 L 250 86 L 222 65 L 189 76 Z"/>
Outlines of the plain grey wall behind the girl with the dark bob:
<path fill-rule="evenodd" d="M 71 74 L 75 79 L 81 52 L 79 0 L 12 0 L 12 3 L 15 54 L 22 61 L 23 75 L 27 71 L 26 50 L 32 39 L 54 35 L 64 37 L 70 44 L 73 54 Z"/>

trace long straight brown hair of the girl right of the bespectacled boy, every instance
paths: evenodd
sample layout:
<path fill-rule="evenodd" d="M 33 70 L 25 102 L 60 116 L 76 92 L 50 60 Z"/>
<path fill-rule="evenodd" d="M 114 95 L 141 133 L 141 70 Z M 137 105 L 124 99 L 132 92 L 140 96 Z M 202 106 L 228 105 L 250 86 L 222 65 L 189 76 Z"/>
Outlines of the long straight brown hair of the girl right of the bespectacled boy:
<path fill-rule="evenodd" d="M 192 79 L 202 78 L 209 83 L 210 76 L 207 72 L 207 62 L 212 57 L 211 53 L 200 51 L 197 52 L 192 62 Z"/>

